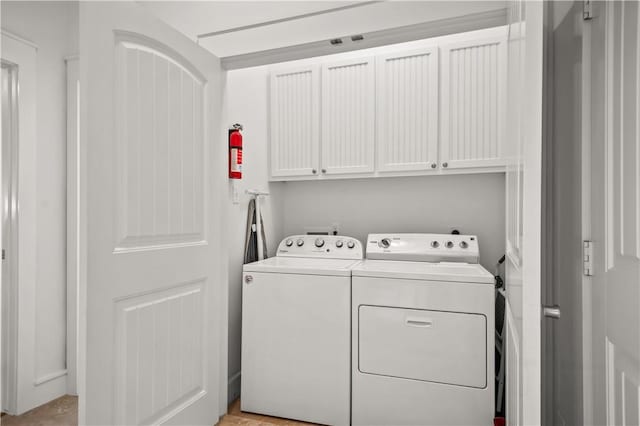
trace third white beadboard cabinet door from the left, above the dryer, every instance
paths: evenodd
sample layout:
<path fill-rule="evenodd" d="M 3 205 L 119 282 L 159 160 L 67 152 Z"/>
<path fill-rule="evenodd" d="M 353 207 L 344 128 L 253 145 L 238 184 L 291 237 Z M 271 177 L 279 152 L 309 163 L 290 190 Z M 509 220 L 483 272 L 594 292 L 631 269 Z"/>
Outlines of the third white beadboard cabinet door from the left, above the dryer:
<path fill-rule="evenodd" d="M 438 49 L 382 55 L 377 62 L 378 170 L 435 170 Z"/>

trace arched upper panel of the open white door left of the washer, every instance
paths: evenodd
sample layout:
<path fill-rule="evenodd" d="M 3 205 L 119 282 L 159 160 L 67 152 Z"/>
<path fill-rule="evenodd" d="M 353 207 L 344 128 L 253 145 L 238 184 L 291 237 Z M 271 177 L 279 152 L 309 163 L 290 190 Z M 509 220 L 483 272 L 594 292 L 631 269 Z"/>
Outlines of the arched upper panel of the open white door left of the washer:
<path fill-rule="evenodd" d="M 153 44 L 117 36 L 119 251 L 203 239 L 204 76 Z"/>

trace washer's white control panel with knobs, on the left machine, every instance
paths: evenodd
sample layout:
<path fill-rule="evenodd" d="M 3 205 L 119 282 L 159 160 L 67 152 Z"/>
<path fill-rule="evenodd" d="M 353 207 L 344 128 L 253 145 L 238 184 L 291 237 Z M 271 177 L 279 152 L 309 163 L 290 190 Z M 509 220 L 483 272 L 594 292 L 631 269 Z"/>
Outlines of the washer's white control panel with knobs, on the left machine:
<path fill-rule="evenodd" d="M 362 243 L 342 235 L 291 235 L 280 242 L 277 256 L 362 259 Z"/>

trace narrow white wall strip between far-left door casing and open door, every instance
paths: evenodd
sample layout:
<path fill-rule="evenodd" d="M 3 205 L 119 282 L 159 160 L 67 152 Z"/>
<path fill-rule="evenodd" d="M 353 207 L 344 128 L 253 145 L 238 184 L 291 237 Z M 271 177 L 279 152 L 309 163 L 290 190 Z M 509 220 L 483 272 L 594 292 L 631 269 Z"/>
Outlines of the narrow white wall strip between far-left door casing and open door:
<path fill-rule="evenodd" d="M 2 29 L 38 45 L 36 371 L 66 368 L 66 74 L 77 53 L 77 4 L 3 1 Z M 24 225 L 24 224 L 22 224 Z M 62 378 L 64 380 L 64 377 Z"/>

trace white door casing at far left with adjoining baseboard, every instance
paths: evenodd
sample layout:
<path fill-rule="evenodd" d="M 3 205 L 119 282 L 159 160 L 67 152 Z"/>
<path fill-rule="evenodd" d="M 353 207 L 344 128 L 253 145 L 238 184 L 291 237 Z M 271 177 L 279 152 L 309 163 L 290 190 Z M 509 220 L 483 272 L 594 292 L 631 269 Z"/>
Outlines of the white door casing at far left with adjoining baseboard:
<path fill-rule="evenodd" d="M 37 53 L 38 46 L 13 33 L 2 30 L 2 59 L 18 67 L 19 121 L 16 127 L 15 202 L 19 213 L 12 219 L 12 233 L 15 242 L 13 253 L 8 259 L 16 278 L 7 285 L 14 306 L 19 309 L 5 318 L 3 327 L 11 330 L 12 344 L 4 348 L 11 380 L 7 382 L 3 407 L 10 414 L 21 414 L 31 408 L 50 401 L 64 392 L 66 369 L 37 376 L 35 354 L 36 333 L 36 219 L 37 187 Z M 7 263 L 9 263 L 7 262 Z M 61 384 L 62 383 L 62 384 Z"/>

